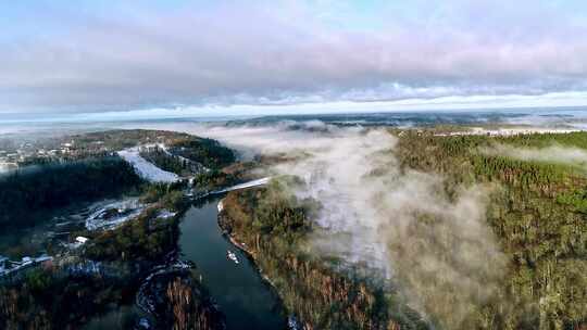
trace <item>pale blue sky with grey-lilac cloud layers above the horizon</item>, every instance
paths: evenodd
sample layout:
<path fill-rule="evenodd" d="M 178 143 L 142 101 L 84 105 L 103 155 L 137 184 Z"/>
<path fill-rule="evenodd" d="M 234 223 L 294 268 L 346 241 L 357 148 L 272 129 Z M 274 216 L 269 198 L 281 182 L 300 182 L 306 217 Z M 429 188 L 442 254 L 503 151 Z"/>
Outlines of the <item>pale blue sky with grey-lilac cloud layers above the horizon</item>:
<path fill-rule="evenodd" d="M 587 105 L 587 1 L 0 3 L 0 116 Z"/>

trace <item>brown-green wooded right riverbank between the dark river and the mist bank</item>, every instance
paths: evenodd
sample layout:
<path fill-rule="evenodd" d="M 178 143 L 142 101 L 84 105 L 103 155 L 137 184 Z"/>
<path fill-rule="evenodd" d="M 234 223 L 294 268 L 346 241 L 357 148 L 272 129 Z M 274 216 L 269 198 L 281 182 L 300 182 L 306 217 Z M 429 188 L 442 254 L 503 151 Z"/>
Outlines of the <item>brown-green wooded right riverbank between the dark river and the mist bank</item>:
<path fill-rule="evenodd" d="M 273 189 L 270 183 L 268 188 L 228 193 L 218 224 L 230 241 L 253 258 L 287 312 L 299 320 L 299 329 L 425 327 L 414 315 L 396 313 L 375 285 L 336 272 L 324 261 L 304 253 L 300 248 L 310 223 L 303 206 L 274 201 Z M 261 200 L 264 206 L 259 204 Z M 264 218 L 266 214 L 276 221 Z"/>

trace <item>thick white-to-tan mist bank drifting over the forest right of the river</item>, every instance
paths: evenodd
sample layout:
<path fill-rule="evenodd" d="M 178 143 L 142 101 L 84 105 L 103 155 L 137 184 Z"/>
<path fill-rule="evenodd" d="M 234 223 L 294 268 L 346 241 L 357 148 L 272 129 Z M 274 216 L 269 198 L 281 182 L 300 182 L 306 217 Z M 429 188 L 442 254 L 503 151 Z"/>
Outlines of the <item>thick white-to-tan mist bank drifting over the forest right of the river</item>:
<path fill-rule="evenodd" d="M 322 205 L 311 249 L 398 283 L 433 323 L 465 328 L 472 313 L 501 295 L 507 262 L 486 224 L 492 188 L 463 187 L 449 196 L 441 176 L 400 168 L 398 138 L 387 130 L 316 120 L 187 130 L 245 157 L 282 156 L 266 170 L 300 177 L 305 185 L 294 193 Z"/>

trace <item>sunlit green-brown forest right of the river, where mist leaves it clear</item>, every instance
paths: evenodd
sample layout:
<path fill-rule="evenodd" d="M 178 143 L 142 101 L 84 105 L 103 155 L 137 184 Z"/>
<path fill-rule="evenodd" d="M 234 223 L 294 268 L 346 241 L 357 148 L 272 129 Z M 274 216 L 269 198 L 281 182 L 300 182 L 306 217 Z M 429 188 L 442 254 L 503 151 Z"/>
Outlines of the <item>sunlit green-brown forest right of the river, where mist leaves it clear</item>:
<path fill-rule="evenodd" d="M 499 288 L 480 303 L 471 304 L 464 319 L 455 320 L 450 302 L 462 293 L 442 280 L 447 275 L 428 275 L 419 283 L 423 287 L 414 288 L 409 281 L 413 269 L 398 269 L 395 285 L 399 290 L 407 285 L 408 292 L 429 293 L 424 295 L 423 309 L 416 313 L 394 290 L 382 290 L 373 279 L 358 276 L 352 268 L 341 270 L 336 259 L 308 253 L 309 237 L 316 230 L 312 213 L 320 205 L 296 199 L 288 187 L 291 180 L 274 181 L 266 189 L 230 192 L 224 200 L 222 227 L 243 243 L 286 308 L 307 329 L 587 327 L 584 169 L 559 160 L 524 160 L 485 152 L 499 145 L 587 149 L 587 132 L 510 137 L 437 136 L 434 129 L 389 132 L 398 138 L 389 152 L 399 161 L 401 170 L 439 175 L 449 199 L 457 199 L 467 187 L 487 187 L 485 219 L 505 255 L 504 275 L 495 279 Z M 415 216 L 413 234 L 434 231 L 441 221 L 434 215 Z M 421 246 L 434 246 L 435 242 L 426 240 L 438 238 L 420 239 Z M 389 248 L 405 249 L 401 242 Z M 450 251 L 436 253 L 451 263 Z M 423 315 L 427 315 L 426 319 Z"/>

